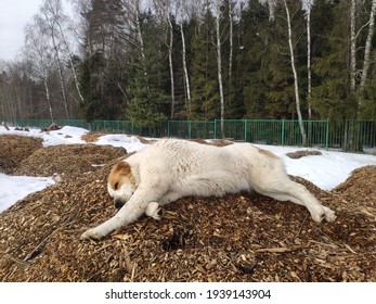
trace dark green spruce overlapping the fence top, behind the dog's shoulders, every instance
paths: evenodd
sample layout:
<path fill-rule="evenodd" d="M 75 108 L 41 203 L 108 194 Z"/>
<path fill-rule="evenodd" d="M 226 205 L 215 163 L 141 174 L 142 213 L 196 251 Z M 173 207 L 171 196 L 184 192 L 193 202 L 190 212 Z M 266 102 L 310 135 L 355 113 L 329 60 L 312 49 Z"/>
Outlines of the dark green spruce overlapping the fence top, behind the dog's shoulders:
<path fill-rule="evenodd" d="M 164 58 L 164 43 L 158 36 L 161 23 L 148 12 L 140 16 L 143 52 L 135 50 L 135 68 L 128 88 L 130 98 L 126 117 L 137 127 L 155 128 L 167 121 L 170 96 L 168 63 Z"/>

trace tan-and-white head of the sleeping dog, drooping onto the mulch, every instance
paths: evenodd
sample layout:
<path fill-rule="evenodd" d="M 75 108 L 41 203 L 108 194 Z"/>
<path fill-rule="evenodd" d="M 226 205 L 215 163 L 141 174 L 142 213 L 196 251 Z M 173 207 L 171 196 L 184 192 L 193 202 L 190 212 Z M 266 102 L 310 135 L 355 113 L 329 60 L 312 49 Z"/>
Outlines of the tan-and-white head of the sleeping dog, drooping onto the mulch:
<path fill-rule="evenodd" d="M 117 163 L 108 175 L 107 189 L 114 198 L 115 207 L 120 208 L 135 191 L 135 181 L 127 162 Z"/>

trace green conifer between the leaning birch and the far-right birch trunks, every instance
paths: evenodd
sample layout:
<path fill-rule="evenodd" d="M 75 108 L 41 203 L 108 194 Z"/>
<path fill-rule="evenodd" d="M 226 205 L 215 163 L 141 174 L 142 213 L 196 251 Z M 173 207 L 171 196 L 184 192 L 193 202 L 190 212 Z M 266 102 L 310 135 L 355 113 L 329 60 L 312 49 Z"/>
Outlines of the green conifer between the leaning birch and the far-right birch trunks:
<path fill-rule="evenodd" d="M 349 28 L 345 1 L 316 1 L 312 7 L 312 109 L 320 118 L 341 121 L 356 116 L 350 89 Z M 324 17 L 323 17 L 324 16 Z"/>

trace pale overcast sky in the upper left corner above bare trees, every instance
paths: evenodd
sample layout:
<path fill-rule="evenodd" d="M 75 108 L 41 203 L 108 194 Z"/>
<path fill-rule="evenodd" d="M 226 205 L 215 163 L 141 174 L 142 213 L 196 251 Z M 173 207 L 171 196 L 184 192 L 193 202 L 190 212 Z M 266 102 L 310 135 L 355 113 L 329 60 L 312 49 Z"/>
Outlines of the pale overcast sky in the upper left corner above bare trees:
<path fill-rule="evenodd" d="M 43 0 L 0 0 L 0 60 L 15 59 L 25 42 L 25 25 L 42 3 Z"/>

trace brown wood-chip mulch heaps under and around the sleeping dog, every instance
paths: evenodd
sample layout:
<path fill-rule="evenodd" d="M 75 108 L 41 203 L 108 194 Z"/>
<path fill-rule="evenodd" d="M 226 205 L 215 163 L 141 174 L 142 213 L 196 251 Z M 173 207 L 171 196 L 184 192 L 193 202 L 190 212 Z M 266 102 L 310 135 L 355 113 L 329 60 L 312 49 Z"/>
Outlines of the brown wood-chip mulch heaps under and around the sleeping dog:
<path fill-rule="evenodd" d="M 94 242 L 79 236 L 116 213 L 106 176 L 121 155 L 103 150 L 106 159 L 92 160 L 87 145 L 59 162 L 67 148 L 54 149 L 15 162 L 14 172 L 66 178 L 0 214 L 0 281 L 376 281 L 375 166 L 332 192 L 297 179 L 336 211 L 332 224 L 312 221 L 293 203 L 241 193 L 181 199 L 161 220 L 143 217 Z"/>

